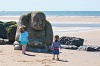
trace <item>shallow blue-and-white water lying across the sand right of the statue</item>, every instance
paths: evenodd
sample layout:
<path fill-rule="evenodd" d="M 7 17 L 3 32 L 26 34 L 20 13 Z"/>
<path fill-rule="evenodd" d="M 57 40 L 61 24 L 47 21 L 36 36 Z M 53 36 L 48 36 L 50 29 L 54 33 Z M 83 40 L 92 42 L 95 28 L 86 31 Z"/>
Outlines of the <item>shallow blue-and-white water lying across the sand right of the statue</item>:
<path fill-rule="evenodd" d="M 84 32 L 100 29 L 98 22 L 51 22 L 54 32 Z"/>

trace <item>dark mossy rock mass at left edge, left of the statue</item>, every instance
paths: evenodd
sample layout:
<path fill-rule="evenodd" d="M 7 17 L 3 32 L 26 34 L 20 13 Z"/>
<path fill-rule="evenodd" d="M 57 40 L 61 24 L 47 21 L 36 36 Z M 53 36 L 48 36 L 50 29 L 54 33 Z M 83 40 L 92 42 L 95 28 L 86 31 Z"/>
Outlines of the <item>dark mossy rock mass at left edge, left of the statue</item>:
<path fill-rule="evenodd" d="M 17 24 L 15 21 L 9 21 L 9 22 L 0 21 L 0 38 L 9 39 L 9 42 L 7 43 L 13 44 L 13 42 L 15 41 L 15 34 L 17 28 L 15 24 Z"/>

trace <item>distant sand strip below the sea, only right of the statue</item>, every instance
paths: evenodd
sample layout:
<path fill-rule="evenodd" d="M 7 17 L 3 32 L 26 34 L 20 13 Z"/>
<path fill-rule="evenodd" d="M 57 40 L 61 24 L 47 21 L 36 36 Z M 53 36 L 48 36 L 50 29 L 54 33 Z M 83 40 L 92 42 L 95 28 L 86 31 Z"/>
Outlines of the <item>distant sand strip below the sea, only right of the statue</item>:
<path fill-rule="evenodd" d="M 100 22 L 100 17 L 57 16 L 47 17 L 49 21 L 65 22 Z"/>

